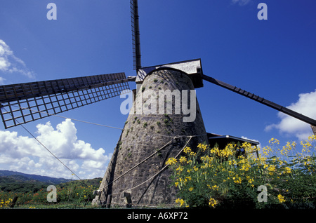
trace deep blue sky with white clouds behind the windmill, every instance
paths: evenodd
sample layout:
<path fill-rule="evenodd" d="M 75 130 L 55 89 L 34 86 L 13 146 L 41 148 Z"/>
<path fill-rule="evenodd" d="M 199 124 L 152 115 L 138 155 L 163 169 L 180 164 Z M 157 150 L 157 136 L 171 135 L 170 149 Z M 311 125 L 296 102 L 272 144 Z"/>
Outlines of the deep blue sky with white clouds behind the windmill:
<path fill-rule="evenodd" d="M 50 2 L 57 6 L 57 20 L 46 18 Z M 257 18 L 261 2 L 268 6 L 268 20 Z M 204 74 L 316 119 L 315 1 L 138 4 L 143 66 L 201 58 Z M 0 20 L 0 84 L 114 72 L 136 75 L 127 0 L 3 0 Z M 312 134 L 308 124 L 212 83 L 204 81 L 197 99 L 210 133 L 248 137 L 262 146 L 271 137 L 282 144 Z M 119 111 L 123 100 L 112 98 L 62 116 L 122 128 L 127 119 Z M 121 133 L 57 117 L 25 127 L 82 178 L 103 176 Z M 72 177 L 21 127 L 5 130 L 1 125 L 0 140 L 0 169 Z M 58 147 L 52 140 L 64 143 Z"/>

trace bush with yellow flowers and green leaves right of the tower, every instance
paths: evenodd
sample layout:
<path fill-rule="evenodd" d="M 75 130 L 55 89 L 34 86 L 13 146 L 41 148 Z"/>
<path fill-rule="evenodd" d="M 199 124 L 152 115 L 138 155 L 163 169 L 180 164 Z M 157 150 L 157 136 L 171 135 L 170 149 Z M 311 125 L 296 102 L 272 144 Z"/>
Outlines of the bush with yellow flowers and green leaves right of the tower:
<path fill-rule="evenodd" d="M 228 144 L 225 149 L 199 144 L 197 151 L 186 147 L 185 156 L 169 158 L 173 184 L 178 187 L 180 206 L 211 208 L 298 207 L 316 205 L 316 158 L 311 154 L 316 137 L 280 149 L 279 141 L 256 150 L 251 144 Z M 245 152 L 242 152 L 245 151 Z M 273 152 L 272 152 L 273 151 Z M 258 157 L 256 154 L 258 153 Z M 268 189 L 267 202 L 258 202 L 259 186 Z"/>

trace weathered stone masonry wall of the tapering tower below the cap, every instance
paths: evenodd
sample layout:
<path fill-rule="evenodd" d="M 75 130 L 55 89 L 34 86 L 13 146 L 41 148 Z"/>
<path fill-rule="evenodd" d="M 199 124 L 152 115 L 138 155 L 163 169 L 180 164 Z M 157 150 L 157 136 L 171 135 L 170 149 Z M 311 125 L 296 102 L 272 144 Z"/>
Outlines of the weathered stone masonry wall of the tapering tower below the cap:
<path fill-rule="evenodd" d="M 182 72 L 157 70 L 143 81 L 133 108 L 136 104 L 148 103 L 148 99 L 140 97 L 140 94 L 149 89 L 154 90 L 158 95 L 159 90 L 193 90 L 194 87 L 190 78 Z M 199 142 L 207 141 L 199 104 L 196 104 L 196 119 L 193 122 L 183 122 L 182 112 L 174 114 L 174 105 L 173 102 L 172 114 L 158 114 L 158 112 L 157 114 L 129 114 L 117 148 L 114 150 L 114 156 L 100 185 L 100 189 L 103 190 L 99 196 L 101 202 L 105 202 L 107 196 L 111 194 L 112 204 L 124 204 L 125 192 L 131 195 L 129 202 L 133 205 L 174 204 L 176 187 L 170 187 L 171 170 L 166 168 L 161 173 L 159 171 L 164 168 L 168 158 L 175 157 L 180 149 L 183 149 L 189 140 L 187 136 L 200 135 L 192 137 L 187 144 L 192 149 L 196 148 Z M 157 111 L 158 109 L 157 106 Z M 177 137 L 174 138 L 175 136 Z M 161 150 L 157 152 L 158 149 Z M 151 156 L 152 154 L 154 155 Z M 148 158 L 149 156 L 151 157 Z M 133 168 L 145 158 L 148 159 Z M 129 173 L 126 173 L 127 171 Z M 157 173 L 159 175 L 150 179 Z M 113 182 L 118 177 L 120 178 Z M 107 187 L 109 183 L 111 184 Z"/>

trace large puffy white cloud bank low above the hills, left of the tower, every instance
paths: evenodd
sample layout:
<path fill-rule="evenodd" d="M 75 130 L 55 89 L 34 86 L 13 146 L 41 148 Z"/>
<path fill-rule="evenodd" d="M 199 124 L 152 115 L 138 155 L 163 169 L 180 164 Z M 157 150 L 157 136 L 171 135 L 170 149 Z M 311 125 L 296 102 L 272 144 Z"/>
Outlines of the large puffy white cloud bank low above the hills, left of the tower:
<path fill-rule="evenodd" d="M 81 179 L 102 177 L 112 154 L 103 148 L 77 139 L 77 129 L 70 119 L 54 129 L 51 123 L 37 125 L 37 139 Z M 72 173 L 54 158 L 37 140 L 0 131 L 0 169 L 22 173 L 71 178 Z"/>

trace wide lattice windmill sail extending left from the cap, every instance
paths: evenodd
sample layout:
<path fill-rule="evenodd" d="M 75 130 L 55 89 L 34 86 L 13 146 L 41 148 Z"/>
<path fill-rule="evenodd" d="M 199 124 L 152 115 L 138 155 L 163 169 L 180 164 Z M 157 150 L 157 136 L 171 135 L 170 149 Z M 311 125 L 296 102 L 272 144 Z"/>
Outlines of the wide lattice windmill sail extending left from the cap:
<path fill-rule="evenodd" d="M 0 86 L 5 128 L 92 104 L 129 89 L 124 73 L 37 81 Z"/>

